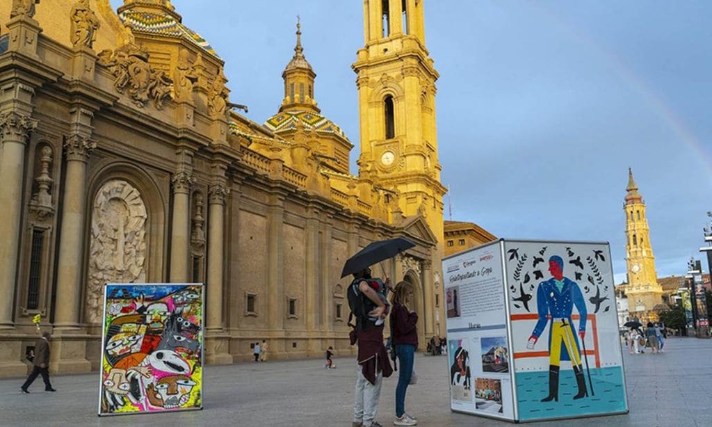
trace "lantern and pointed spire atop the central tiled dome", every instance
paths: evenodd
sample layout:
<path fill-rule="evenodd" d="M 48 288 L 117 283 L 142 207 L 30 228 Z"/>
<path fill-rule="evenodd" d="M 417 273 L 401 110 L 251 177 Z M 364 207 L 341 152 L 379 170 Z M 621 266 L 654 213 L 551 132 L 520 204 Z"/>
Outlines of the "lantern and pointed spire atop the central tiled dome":
<path fill-rule="evenodd" d="M 316 73 L 304 56 L 302 47 L 302 25 L 297 16 L 297 43 L 294 46 L 294 56 L 287 64 L 282 78 L 284 79 L 284 98 L 280 111 L 311 110 L 319 112 L 314 100 L 314 79 Z"/>

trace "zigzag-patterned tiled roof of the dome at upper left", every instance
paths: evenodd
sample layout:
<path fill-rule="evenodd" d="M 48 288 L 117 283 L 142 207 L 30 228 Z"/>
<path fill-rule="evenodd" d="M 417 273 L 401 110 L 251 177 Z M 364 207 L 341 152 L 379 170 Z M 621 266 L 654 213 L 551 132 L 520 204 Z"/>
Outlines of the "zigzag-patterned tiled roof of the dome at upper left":
<path fill-rule="evenodd" d="M 183 23 L 175 19 L 174 16 L 127 9 L 120 12 L 119 18 L 125 25 L 130 26 L 132 31 L 183 38 L 194 43 L 212 56 L 219 58 L 216 51 L 210 46 L 210 43 L 202 38 L 200 34 L 184 26 Z"/>

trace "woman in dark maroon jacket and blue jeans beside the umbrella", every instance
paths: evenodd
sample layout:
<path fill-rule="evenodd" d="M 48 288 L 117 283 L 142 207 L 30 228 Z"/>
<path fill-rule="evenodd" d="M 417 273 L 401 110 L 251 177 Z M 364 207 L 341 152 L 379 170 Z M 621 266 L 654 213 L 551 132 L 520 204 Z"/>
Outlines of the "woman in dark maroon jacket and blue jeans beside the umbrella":
<path fill-rule="evenodd" d="M 405 304 L 408 283 L 400 282 L 393 292 L 390 326 L 400 372 L 396 386 L 396 426 L 415 426 L 418 421 L 405 412 L 405 394 L 412 381 L 415 349 L 418 347 L 418 315 Z"/>

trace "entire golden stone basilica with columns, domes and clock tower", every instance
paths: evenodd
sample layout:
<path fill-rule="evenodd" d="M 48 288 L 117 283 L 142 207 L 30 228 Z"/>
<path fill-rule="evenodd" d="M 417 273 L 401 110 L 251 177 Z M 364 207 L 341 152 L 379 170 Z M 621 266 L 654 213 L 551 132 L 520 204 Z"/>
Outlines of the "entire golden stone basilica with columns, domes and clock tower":
<path fill-rule="evenodd" d="M 168 0 L 2 2 L 0 376 L 26 373 L 37 314 L 53 371 L 98 369 L 105 283 L 205 283 L 208 363 L 246 360 L 261 339 L 275 358 L 350 354 L 342 265 L 394 236 L 417 247 L 383 273 L 409 283 L 421 342 L 444 334 L 422 7 L 365 1 L 353 176 L 299 29 L 261 125 L 235 111 L 224 61 Z"/>

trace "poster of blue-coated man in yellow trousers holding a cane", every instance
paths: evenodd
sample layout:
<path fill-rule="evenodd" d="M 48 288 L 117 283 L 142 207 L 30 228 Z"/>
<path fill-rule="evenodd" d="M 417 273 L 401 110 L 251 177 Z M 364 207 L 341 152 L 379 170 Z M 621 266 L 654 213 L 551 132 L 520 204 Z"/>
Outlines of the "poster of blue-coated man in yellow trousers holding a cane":
<path fill-rule="evenodd" d="M 521 421 L 627 411 L 607 243 L 505 241 Z"/>

